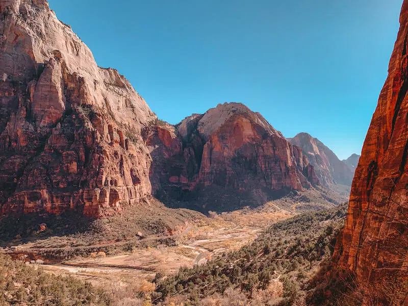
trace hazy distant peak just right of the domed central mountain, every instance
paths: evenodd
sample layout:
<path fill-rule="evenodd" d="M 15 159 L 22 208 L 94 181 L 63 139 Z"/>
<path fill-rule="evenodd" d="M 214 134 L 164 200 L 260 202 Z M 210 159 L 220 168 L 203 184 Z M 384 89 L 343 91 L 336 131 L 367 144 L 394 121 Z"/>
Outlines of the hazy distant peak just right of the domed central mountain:
<path fill-rule="evenodd" d="M 326 187 L 333 184 L 351 185 L 353 172 L 319 139 L 307 133 L 299 133 L 294 138 L 288 138 L 288 141 L 302 149 L 303 154 L 315 168 L 322 185 Z"/>

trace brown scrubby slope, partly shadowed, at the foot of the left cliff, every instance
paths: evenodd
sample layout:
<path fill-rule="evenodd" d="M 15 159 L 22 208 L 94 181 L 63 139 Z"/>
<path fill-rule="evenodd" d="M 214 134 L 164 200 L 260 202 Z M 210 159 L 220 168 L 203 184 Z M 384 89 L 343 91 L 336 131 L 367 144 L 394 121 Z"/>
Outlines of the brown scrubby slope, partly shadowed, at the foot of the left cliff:
<path fill-rule="evenodd" d="M 201 218 L 204 216 L 198 212 L 166 208 L 156 199 L 148 205 L 124 208 L 104 219 L 86 217 L 79 212 L 5 216 L 0 220 L 0 243 L 44 249 L 43 256 L 46 249 L 53 252 L 53 248 L 65 248 L 69 256 L 75 256 L 75 252 L 86 255 L 94 245 L 110 245 L 111 250 L 115 244 L 120 246 L 118 249 L 123 243 L 132 245 L 140 240 L 137 233 L 151 239 L 171 237 Z"/>

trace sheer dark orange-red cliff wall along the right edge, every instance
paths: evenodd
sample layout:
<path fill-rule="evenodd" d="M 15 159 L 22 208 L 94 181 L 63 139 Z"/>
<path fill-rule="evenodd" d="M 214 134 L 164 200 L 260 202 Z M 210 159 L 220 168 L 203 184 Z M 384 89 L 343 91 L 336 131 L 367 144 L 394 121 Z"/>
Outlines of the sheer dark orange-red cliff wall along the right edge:
<path fill-rule="evenodd" d="M 334 255 L 340 267 L 356 274 L 368 294 L 378 294 L 383 298 L 380 304 L 390 305 L 408 303 L 407 0 L 400 23 L 389 75 L 355 171 L 346 225 Z M 387 286 L 389 279 L 391 286 Z M 368 291 L 368 286 L 374 290 Z"/>

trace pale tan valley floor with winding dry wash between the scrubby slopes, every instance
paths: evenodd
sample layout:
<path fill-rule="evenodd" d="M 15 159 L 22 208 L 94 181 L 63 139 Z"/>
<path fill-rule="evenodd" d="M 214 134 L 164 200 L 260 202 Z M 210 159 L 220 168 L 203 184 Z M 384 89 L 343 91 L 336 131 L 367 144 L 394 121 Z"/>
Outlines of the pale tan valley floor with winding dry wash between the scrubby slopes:
<path fill-rule="evenodd" d="M 31 265 L 56 275 L 71 275 L 102 287 L 114 296 L 117 304 L 134 296 L 135 291 L 143 291 L 143 284 L 154 281 L 157 273 L 173 275 L 180 267 L 203 265 L 223 252 L 237 250 L 256 239 L 271 224 L 293 216 L 273 203 L 262 209 L 241 210 L 231 213 L 210 214 L 195 221 L 185 223 L 182 230 L 172 235 L 171 243 L 163 243 L 163 234 L 148 235 L 142 239 L 114 242 L 118 250 L 105 249 L 104 243 L 78 247 L 83 252 L 96 249 L 103 251 L 100 256 L 87 251 L 83 256 L 73 256 L 67 260 L 52 258 L 50 254 L 60 254 L 74 249 L 70 244 L 79 244 L 81 236 L 49 237 L 42 240 L 7 247 L 3 252 L 13 258 L 28 254 Z M 122 251 L 121 246 L 132 244 L 132 249 Z M 74 252 L 75 253 L 75 252 Z M 33 255 L 34 254 L 34 255 Z M 42 258 L 40 254 L 45 254 Z M 106 255 L 107 254 L 107 255 Z M 37 259 L 34 261 L 33 259 Z"/>

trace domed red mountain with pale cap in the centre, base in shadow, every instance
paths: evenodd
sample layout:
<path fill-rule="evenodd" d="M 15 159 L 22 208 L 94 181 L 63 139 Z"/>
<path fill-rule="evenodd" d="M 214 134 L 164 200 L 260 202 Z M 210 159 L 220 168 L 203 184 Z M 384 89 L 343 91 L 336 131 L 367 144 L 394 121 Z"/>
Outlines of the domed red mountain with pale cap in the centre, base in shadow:
<path fill-rule="evenodd" d="M 265 202 L 269 194 L 319 184 L 301 149 L 242 104 L 220 104 L 187 117 L 176 129 L 158 126 L 149 131 L 147 144 L 159 196 L 182 200 L 200 194 L 206 205 L 221 188 Z"/>

